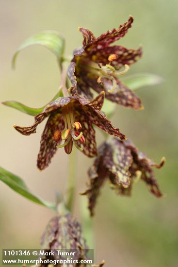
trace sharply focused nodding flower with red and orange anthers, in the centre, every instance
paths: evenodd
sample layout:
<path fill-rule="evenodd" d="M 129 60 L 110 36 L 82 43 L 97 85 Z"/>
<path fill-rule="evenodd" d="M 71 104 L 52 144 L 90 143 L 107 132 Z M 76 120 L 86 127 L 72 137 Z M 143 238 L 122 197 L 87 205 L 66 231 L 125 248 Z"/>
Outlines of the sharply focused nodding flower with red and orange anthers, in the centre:
<path fill-rule="evenodd" d="M 57 148 L 65 147 L 65 152 L 70 154 L 73 143 L 86 156 L 96 156 L 97 145 L 92 124 L 108 134 L 126 139 L 126 136 L 121 134 L 119 129 L 114 128 L 101 111 L 103 101 L 104 92 L 90 101 L 78 96 L 60 97 L 47 105 L 42 113 L 34 117 L 32 126 L 14 125 L 20 134 L 34 134 L 38 124 L 49 116 L 41 137 L 37 158 L 37 167 L 40 170 L 48 167 Z"/>

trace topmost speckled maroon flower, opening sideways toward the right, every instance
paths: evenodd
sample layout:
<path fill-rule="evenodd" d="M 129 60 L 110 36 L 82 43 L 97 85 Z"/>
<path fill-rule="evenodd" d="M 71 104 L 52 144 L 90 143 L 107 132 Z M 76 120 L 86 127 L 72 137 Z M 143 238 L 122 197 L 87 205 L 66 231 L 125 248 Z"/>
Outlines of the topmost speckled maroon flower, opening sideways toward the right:
<path fill-rule="evenodd" d="M 83 35 L 83 46 L 74 50 L 74 57 L 68 67 L 71 80 L 71 93 L 92 98 L 90 87 L 97 93 L 105 91 L 106 98 L 134 109 L 143 108 L 141 100 L 118 78 L 129 70 L 129 65 L 142 56 L 142 48 L 126 49 L 122 46 L 110 46 L 127 33 L 133 17 L 119 28 L 95 37 L 94 34 L 80 27 Z M 121 67 L 125 67 L 120 71 Z"/>

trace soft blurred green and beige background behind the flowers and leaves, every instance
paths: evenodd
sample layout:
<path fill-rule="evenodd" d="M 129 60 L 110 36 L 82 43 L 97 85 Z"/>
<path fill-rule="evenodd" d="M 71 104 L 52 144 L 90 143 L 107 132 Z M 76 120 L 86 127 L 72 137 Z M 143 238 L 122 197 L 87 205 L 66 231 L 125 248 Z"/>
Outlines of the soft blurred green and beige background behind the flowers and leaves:
<path fill-rule="evenodd" d="M 115 196 L 106 184 L 94 217 L 97 263 L 107 267 L 178 266 L 178 1 L 177 0 L 0 0 L 0 101 L 17 100 L 40 107 L 57 92 L 60 75 L 56 59 L 48 50 L 34 46 L 17 59 L 11 59 L 20 43 L 42 30 L 56 30 L 66 38 L 66 54 L 81 45 L 78 26 L 96 36 L 124 23 L 129 15 L 132 28 L 119 44 L 137 48 L 143 44 L 144 58 L 129 74 L 151 72 L 163 77 L 161 85 L 137 91 L 145 110 L 117 108 L 113 124 L 129 136 L 140 150 L 165 167 L 156 170 L 163 199 L 150 195 L 142 182 L 133 188 L 131 198 Z M 23 177 L 32 191 L 48 200 L 54 192 L 66 190 L 68 156 L 59 150 L 50 167 L 39 172 L 36 156 L 44 123 L 37 134 L 26 137 L 13 124 L 31 125 L 33 118 L 0 106 L 0 165 Z M 98 144 L 102 136 L 97 133 Z M 78 195 L 87 181 L 86 169 L 92 164 L 78 153 L 78 181 L 75 215 L 79 218 Z M 40 236 L 49 219 L 49 210 L 35 205 L 0 183 L 0 247 L 39 248 Z"/>

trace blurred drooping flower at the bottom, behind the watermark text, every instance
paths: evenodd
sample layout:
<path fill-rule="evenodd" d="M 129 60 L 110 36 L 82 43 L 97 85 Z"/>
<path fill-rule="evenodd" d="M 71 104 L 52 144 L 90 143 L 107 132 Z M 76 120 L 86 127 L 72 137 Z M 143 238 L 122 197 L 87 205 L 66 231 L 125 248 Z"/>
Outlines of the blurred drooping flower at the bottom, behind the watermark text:
<path fill-rule="evenodd" d="M 50 219 L 42 235 L 40 251 L 45 252 L 45 255 L 40 255 L 40 264 L 31 267 L 62 267 L 66 266 L 66 261 L 70 267 L 102 267 L 105 263 L 104 261 L 99 265 L 81 263 L 85 261 L 91 263 L 94 255 L 92 250 L 89 251 L 83 238 L 80 222 L 68 212 L 62 212 Z"/>

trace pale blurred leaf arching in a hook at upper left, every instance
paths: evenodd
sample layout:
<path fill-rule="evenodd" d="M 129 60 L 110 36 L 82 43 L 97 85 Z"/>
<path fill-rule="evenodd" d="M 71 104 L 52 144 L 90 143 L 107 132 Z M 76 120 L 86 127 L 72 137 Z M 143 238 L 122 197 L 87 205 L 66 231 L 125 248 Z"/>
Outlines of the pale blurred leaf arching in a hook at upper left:
<path fill-rule="evenodd" d="M 16 65 L 16 57 L 19 52 L 32 45 L 41 45 L 46 47 L 56 55 L 58 62 L 60 62 L 64 52 L 65 40 L 60 33 L 53 31 L 44 31 L 29 37 L 16 51 L 12 61 L 13 68 Z"/>

